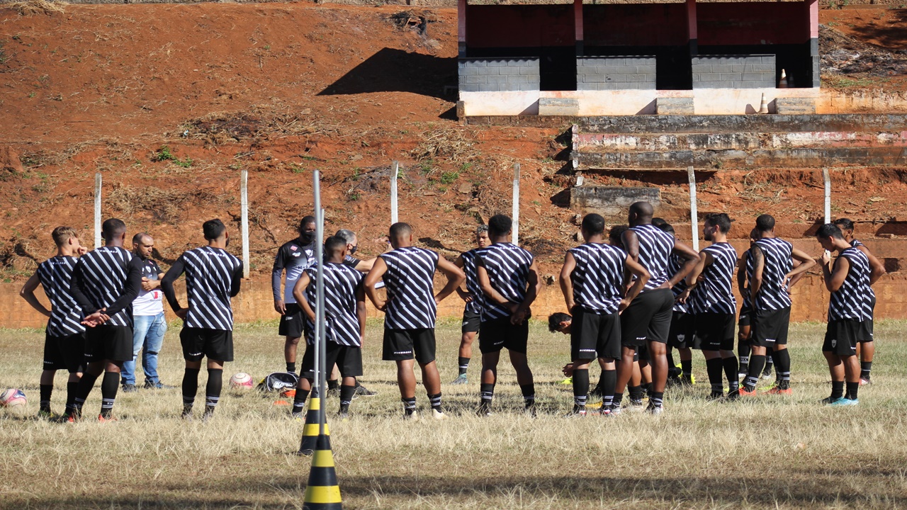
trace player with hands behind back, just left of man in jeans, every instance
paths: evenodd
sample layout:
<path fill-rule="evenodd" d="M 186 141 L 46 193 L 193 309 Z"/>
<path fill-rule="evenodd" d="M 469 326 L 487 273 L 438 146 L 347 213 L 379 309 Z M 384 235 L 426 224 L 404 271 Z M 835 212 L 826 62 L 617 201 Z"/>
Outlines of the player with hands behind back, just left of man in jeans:
<path fill-rule="evenodd" d="M 126 224 L 110 219 L 102 226 L 104 246 L 83 255 L 73 270 L 70 291 L 82 310 L 85 362 L 88 368 L 76 388 L 73 413 L 82 417 L 85 399 L 101 373 L 100 421 L 112 418 L 123 361 L 132 359 L 132 300 L 141 289 L 141 262 L 124 249 Z"/>

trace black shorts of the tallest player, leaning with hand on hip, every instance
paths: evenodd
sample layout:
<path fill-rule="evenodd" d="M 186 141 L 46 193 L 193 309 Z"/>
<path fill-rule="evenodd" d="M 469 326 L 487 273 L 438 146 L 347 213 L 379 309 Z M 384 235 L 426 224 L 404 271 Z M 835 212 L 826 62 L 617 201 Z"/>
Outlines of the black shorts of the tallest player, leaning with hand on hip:
<path fill-rule="evenodd" d="M 647 290 L 620 314 L 620 341 L 625 346 L 650 342 L 668 343 L 674 293 L 671 289 Z"/>

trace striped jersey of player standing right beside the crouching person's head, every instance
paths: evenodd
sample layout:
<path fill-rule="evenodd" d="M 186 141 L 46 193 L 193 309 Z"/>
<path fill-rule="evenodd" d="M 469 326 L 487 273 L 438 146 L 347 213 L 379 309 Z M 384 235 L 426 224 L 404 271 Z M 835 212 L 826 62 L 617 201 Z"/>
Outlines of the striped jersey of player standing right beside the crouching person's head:
<path fill-rule="evenodd" d="M 569 252 L 576 260 L 571 272 L 576 306 L 600 315 L 617 312 L 623 297 L 627 252 L 598 242 L 581 244 Z"/>

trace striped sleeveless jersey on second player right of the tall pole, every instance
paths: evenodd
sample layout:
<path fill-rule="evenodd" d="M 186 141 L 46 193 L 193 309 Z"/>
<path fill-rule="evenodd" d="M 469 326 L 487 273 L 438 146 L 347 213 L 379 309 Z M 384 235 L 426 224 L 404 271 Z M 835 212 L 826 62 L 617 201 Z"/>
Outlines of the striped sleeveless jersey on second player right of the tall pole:
<path fill-rule="evenodd" d="M 438 315 L 434 302 L 434 270 L 438 267 L 438 254 L 410 246 L 378 257 L 387 265 L 385 328 L 434 328 Z"/>

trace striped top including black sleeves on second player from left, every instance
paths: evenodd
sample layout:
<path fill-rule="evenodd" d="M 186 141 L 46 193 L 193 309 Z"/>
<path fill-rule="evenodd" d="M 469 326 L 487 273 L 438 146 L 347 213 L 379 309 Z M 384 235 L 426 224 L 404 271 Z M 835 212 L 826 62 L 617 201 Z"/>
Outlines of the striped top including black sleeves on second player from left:
<path fill-rule="evenodd" d="M 102 246 L 79 258 L 70 283 L 83 317 L 100 309 L 105 324 L 132 328 L 132 300 L 141 290 L 141 260 L 129 250 Z"/>

